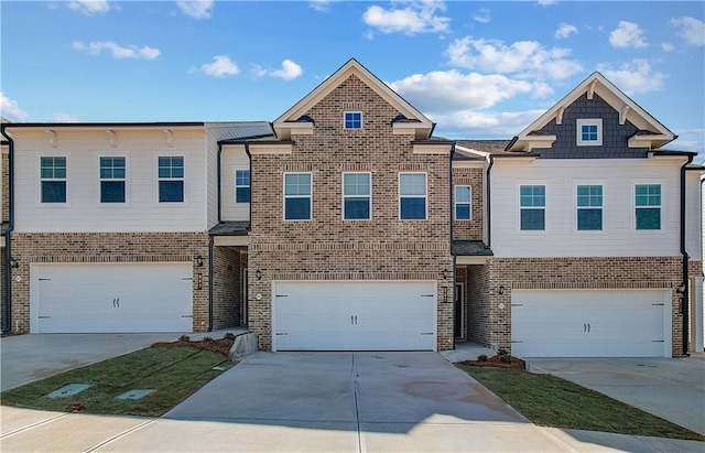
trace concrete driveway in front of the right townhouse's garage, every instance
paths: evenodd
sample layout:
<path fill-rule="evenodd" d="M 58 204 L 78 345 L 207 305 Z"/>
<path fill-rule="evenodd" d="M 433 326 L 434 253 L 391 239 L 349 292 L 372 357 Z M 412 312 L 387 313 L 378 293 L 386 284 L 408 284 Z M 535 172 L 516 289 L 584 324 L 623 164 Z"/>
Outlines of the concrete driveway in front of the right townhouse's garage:
<path fill-rule="evenodd" d="M 705 359 L 531 358 L 558 376 L 705 435 Z"/>

